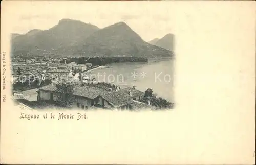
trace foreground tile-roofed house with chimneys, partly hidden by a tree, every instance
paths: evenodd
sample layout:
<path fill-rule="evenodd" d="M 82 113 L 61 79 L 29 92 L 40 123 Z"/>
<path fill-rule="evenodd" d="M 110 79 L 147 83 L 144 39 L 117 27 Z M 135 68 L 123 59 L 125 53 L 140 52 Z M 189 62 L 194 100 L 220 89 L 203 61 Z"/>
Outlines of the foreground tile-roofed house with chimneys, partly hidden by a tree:
<path fill-rule="evenodd" d="M 49 84 L 38 89 L 37 101 L 56 103 L 59 93 L 54 84 Z M 135 86 L 133 88 L 116 88 L 115 90 L 110 88 L 107 91 L 102 88 L 75 85 L 73 95 L 76 100 L 71 107 L 82 110 L 95 108 L 108 110 L 155 108 L 154 106 L 138 101 L 144 95 L 144 92 L 137 90 Z"/>

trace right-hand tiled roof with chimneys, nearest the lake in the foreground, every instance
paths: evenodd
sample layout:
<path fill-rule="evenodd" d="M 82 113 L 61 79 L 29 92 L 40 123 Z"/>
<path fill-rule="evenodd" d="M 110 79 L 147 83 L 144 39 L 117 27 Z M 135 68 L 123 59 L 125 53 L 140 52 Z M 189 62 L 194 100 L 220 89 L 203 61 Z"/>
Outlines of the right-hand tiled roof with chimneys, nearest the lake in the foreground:
<path fill-rule="evenodd" d="M 132 96 L 130 96 L 129 91 L 131 91 Z M 133 98 L 143 95 L 144 92 L 133 88 L 124 88 L 117 91 L 111 91 L 101 96 L 114 107 L 120 107 L 126 104 L 133 103 Z"/>

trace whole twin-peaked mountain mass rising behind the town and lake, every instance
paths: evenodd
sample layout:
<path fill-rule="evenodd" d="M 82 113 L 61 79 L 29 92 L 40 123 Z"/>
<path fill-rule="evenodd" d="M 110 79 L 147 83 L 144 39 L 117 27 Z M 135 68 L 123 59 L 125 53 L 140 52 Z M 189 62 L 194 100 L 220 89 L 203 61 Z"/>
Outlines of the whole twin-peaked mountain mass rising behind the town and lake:
<path fill-rule="evenodd" d="M 62 19 L 49 30 L 31 30 L 12 39 L 12 53 L 36 54 L 38 50 L 60 56 L 172 56 L 145 42 L 126 23 L 99 29 L 78 20 Z M 41 52 L 40 52 L 41 53 Z"/>

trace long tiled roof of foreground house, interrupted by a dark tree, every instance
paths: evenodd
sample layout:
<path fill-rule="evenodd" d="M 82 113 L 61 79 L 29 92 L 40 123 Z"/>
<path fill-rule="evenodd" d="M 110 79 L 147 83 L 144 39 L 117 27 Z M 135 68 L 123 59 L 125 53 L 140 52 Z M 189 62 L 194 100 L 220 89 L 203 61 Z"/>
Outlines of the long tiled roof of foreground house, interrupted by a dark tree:
<path fill-rule="evenodd" d="M 49 84 L 49 85 L 40 87 L 39 90 L 56 92 L 57 87 L 54 84 Z M 94 88 L 89 86 L 79 86 L 79 85 L 74 86 L 74 95 L 83 96 L 90 99 L 94 99 L 99 95 L 104 95 L 105 93 L 106 91 L 100 88 Z"/>

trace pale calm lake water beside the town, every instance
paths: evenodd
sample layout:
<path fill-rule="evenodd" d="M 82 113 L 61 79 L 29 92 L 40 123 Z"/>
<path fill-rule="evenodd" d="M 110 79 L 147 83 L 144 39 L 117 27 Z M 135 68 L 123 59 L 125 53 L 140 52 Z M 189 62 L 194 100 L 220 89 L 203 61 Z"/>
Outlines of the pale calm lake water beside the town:
<path fill-rule="evenodd" d="M 133 85 L 141 91 L 152 88 L 158 97 L 174 102 L 174 61 L 174 59 L 169 59 L 114 63 L 108 65 L 109 68 L 92 70 L 91 76 L 95 76 L 97 81 L 112 82 L 121 88 Z"/>

